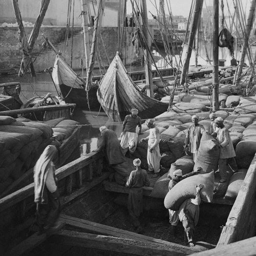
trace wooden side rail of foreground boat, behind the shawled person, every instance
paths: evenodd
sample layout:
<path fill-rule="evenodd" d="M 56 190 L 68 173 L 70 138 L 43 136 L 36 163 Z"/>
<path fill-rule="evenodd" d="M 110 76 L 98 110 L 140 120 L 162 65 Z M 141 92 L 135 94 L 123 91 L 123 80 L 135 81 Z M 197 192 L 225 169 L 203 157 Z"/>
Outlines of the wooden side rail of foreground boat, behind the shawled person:
<path fill-rule="evenodd" d="M 89 153 L 56 170 L 61 205 L 70 203 L 76 197 L 108 178 L 102 173 L 102 153 Z M 34 208 L 34 183 L 18 189 L 0 199 L 0 226 L 22 223 L 29 210 Z M 28 214 L 27 214 L 28 215 Z"/>

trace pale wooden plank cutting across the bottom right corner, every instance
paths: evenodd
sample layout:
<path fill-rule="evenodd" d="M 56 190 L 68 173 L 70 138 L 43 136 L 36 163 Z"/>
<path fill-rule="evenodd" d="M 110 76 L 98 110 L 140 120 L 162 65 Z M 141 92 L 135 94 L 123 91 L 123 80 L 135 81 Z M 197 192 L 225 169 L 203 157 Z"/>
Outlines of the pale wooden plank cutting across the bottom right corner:
<path fill-rule="evenodd" d="M 256 237 L 218 246 L 214 249 L 191 254 L 191 256 L 251 256 L 256 252 Z"/>

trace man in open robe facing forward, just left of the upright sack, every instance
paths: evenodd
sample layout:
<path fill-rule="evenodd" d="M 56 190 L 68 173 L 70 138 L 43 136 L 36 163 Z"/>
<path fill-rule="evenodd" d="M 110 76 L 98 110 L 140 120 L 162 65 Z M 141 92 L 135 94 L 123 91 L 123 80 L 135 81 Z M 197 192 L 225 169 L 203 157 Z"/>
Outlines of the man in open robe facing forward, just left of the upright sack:
<path fill-rule="evenodd" d="M 185 147 L 188 147 L 188 150 L 192 153 L 194 162 L 196 162 L 200 141 L 205 129 L 203 125 L 198 123 L 199 118 L 197 115 L 192 116 L 191 119 L 193 124 L 190 124 L 187 129 L 184 143 Z"/>

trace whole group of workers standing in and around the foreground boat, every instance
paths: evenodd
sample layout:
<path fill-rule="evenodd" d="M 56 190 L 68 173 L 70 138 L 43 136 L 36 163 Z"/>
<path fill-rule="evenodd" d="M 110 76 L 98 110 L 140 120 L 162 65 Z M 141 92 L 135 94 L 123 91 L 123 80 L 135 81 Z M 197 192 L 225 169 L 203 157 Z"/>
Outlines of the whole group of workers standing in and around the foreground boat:
<path fill-rule="evenodd" d="M 236 153 L 232 145 L 229 131 L 223 124 L 223 119 L 218 117 L 215 113 L 209 115 L 211 120 L 210 134 L 215 137 L 220 147 L 219 171 L 221 180 L 220 183 L 227 181 L 227 165 L 234 159 Z M 205 131 L 204 126 L 199 124 L 199 117 L 193 115 L 191 117 L 193 124 L 189 125 L 186 138 L 184 141 L 184 148 L 193 155 L 194 162 L 197 161 L 198 150 L 200 146 L 201 137 Z M 150 186 L 150 179 L 148 174 L 152 177 L 158 177 L 160 173 L 160 132 L 154 123 L 154 119 L 147 119 L 145 124 L 150 129 L 147 137 L 142 138 L 140 142 L 147 141 L 147 163 L 148 171 L 140 167 L 141 160 L 135 159 L 133 164 L 135 170 L 132 170 L 125 186 L 130 188 L 128 198 L 128 210 L 136 227 L 136 232 L 142 232 L 142 227 L 139 222 L 139 217 L 142 212 L 143 186 Z M 106 126 L 100 127 L 99 145 L 94 152 L 104 150 L 106 159 L 110 165 L 115 165 L 125 161 L 125 153 L 130 151 L 135 152 L 138 142 L 138 134 L 141 134 L 141 119 L 138 116 L 138 110 L 132 109 L 131 115 L 127 115 L 122 125 L 121 141 L 119 142 L 116 133 Z M 34 167 L 34 182 L 35 182 L 35 203 L 37 204 L 37 224 L 39 226 L 39 233 L 48 230 L 55 222 L 59 215 L 60 203 L 59 193 L 57 187 L 57 180 L 55 177 L 54 159 L 57 155 L 57 148 L 55 146 L 47 146 L 42 153 Z M 229 165 L 230 166 L 230 165 Z M 234 166 L 236 166 L 234 164 Z M 198 167 L 197 170 L 183 175 L 182 170 L 178 169 L 174 172 L 174 178 L 170 180 L 169 189 L 172 189 L 179 181 L 191 175 L 196 175 L 202 170 Z M 236 168 L 232 169 L 233 171 Z M 196 187 L 196 198 L 189 198 L 184 201 L 178 211 L 169 209 L 169 223 L 171 224 L 171 234 L 175 236 L 176 226 L 180 220 L 183 224 L 185 234 L 189 246 L 194 246 L 194 229 L 198 223 L 200 190 L 203 185 Z"/>

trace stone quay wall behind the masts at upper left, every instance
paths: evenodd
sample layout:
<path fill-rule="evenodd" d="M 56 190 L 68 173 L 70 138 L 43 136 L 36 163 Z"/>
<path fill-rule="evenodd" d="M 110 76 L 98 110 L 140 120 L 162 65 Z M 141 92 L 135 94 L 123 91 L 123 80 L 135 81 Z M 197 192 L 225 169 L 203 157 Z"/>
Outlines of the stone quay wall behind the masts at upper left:
<path fill-rule="evenodd" d="M 29 37 L 32 28 L 25 28 L 26 35 Z M 55 53 L 52 50 L 42 50 L 42 43 L 45 41 L 42 33 L 48 37 L 57 51 L 61 51 L 65 55 L 65 27 L 44 26 L 40 28 L 38 38 L 34 45 L 33 59 L 36 72 L 42 72 L 44 69 L 54 65 Z M 72 68 L 74 70 L 81 69 L 81 58 L 83 58 L 83 66 L 86 65 L 84 57 L 83 35 L 80 33 L 81 28 L 75 27 L 73 31 L 73 56 Z M 136 60 L 133 51 L 132 37 L 133 28 L 127 27 L 125 32 L 125 50 L 123 55 L 126 55 L 125 63 L 129 64 Z M 90 34 L 90 42 L 92 41 L 92 33 Z M 90 44 L 91 45 L 91 44 Z M 0 71 L 15 70 L 18 72 L 20 61 L 22 60 L 22 49 L 19 43 L 17 28 L 1 28 L 0 27 Z M 118 51 L 118 29 L 117 28 L 101 28 L 101 37 L 98 40 L 97 55 L 101 59 L 103 66 L 108 67 Z M 40 54 L 39 54 L 40 53 Z M 39 55 L 38 55 L 39 54 Z M 108 54 L 108 56 L 106 55 Z M 71 38 L 68 41 L 66 49 L 66 61 L 71 62 Z M 95 68 L 99 67 L 98 59 L 95 58 Z"/>

